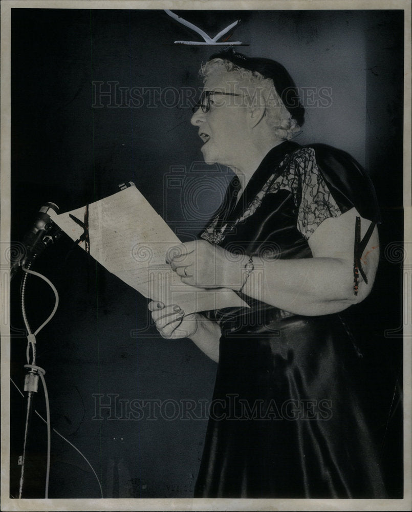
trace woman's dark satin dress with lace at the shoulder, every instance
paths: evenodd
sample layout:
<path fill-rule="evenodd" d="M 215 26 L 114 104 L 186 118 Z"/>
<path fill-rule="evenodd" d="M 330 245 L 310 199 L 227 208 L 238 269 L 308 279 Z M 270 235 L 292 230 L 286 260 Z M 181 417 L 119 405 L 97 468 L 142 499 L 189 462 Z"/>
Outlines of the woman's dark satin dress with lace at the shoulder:
<path fill-rule="evenodd" d="M 281 143 L 236 206 L 235 194 L 236 178 L 201 237 L 252 256 L 309 258 L 317 225 L 353 206 L 371 230 L 379 222 L 370 180 L 324 145 Z M 355 288 L 358 263 L 355 251 Z M 361 358 L 340 316 L 242 298 L 250 309 L 206 313 L 222 336 L 195 497 L 384 498 L 360 399 Z"/>

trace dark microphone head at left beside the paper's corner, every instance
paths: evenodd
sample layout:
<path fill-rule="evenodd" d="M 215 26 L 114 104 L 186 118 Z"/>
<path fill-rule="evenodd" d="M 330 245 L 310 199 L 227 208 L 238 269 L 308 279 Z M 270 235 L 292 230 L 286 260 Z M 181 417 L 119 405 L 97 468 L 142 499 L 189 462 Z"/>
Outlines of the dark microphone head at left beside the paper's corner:
<path fill-rule="evenodd" d="M 13 279 L 19 267 L 26 267 L 50 243 L 59 238 L 61 229 L 51 220 L 50 210 L 54 210 L 58 214 L 59 207 L 54 203 L 46 203 L 39 209 L 36 220 L 21 241 L 20 246 L 23 246 L 23 250 L 17 251 L 17 254 L 11 261 L 10 279 Z"/>

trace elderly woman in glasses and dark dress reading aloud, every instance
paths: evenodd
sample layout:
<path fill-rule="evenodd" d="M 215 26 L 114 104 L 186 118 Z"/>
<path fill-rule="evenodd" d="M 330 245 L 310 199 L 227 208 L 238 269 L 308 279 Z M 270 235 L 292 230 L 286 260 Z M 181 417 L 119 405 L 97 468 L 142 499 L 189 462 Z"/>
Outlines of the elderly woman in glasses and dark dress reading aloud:
<path fill-rule="evenodd" d="M 191 123 L 226 199 L 170 261 L 182 282 L 249 308 L 149 309 L 218 372 L 196 497 L 385 497 L 362 412 L 360 353 L 338 313 L 370 293 L 379 260 L 373 187 L 348 154 L 290 139 L 304 111 L 277 62 L 233 50 L 202 67 Z"/>

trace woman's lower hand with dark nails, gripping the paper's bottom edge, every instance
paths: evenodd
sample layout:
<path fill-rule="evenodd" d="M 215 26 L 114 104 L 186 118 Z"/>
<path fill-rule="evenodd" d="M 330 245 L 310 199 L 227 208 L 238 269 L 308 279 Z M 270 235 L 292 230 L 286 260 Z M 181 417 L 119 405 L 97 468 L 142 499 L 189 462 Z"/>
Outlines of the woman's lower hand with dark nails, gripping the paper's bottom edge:
<path fill-rule="evenodd" d="M 163 338 L 190 338 L 198 330 L 200 315 L 193 313 L 184 316 L 184 311 L 177 304 L 165 306 L 162 302 L 151 301 L 148 308 Z"/>

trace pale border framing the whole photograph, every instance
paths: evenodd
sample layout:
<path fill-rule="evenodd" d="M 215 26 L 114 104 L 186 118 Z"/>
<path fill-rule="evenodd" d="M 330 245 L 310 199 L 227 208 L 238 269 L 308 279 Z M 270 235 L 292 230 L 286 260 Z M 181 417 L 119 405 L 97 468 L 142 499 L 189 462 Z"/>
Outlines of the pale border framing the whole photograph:
<path fill-rule="evenodd" d="M 1 4 L 1 201 L 0 201 L 0 242 L 2 247 L 10 240 L 10 55 L 11 55 L 11 9 L 42 8 L 42 9 L 186 9 L 197 8 L 209 10 L 295 10 L 295 9 L 401 9 L 405 15 L 405 78 L 404 78 L 404 498 L 399 500 L 342 500 L 342 499 L 10 499 L 9 498 L 9 406 L 10 406 L 10 330 L 4 312 L 8 311 L 9 269 L 4 258 L 4 250 L 0 253 L 0 301 L 3 311 L 1 320 L 1 509 L 2 510 L 410 510 L 412 508 L 412 458 L 411 458 L 411 340 L 412 326 L 410 312 L 406 308 L 411 305 L 410 280 L 412 270 L 412 201 L 411 201 L 411 4 L 408 1 L 396 0 L 286 0 L 265 1 L 215 1 L 199 0 L 177 1 L 127 1 L 127 0 L 3 0 Z M 409 272 L 409 274 L 407 274 Z M 405 307 L 406 306 L 406 307 Z M 408 322 L 406 322 L 408 320 Z"/>

